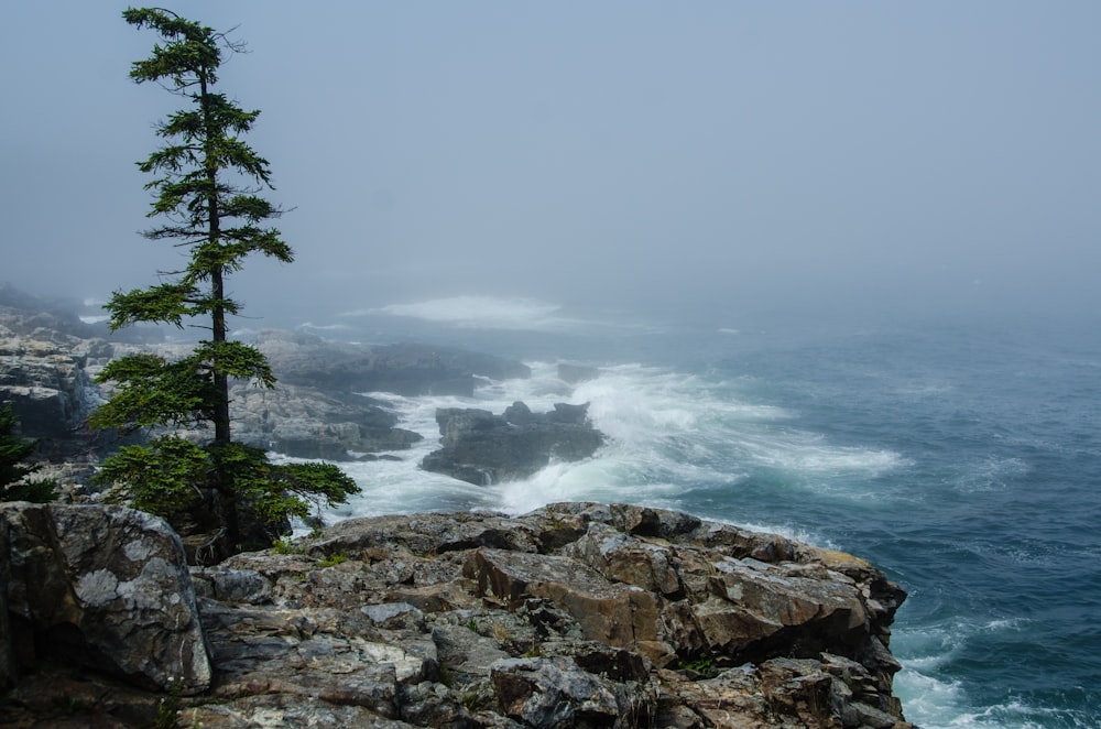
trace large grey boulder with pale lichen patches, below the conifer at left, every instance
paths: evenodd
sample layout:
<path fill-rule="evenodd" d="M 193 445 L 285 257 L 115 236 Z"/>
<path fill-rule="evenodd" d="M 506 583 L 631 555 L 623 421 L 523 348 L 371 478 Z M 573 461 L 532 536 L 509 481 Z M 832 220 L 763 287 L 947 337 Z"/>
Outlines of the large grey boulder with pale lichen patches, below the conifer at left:
<path fill-rule="evenodd" d="M 8 503 L 8 610 L 35 654 L 195 694 L 210 664 L 179 537 L 122 508 Z M 32 660 L 35 656 L 30 656 Z"/>

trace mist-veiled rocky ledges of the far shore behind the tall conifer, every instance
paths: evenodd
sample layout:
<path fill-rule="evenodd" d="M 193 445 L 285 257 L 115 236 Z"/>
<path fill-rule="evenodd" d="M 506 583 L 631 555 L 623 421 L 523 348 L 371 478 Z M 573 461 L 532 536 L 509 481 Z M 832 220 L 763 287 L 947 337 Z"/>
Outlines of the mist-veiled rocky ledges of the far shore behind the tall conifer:
<path fill-rule="evenodd" d="M 73 305 L 0 285 L 0 402 L 12 404 L 24 436 L 40 439 L 39 457 L 90 464 L 117 445 L 85 427 L 105 400 L 95 374 L 129 352 L 171 358 L 189 346 L 110 335 L 67 312 Z M 531 376 L 515 360 L 421 344 L 352 345 L 281 330 L 262 331 L 255 344 L 280 382 L 274 390 L 233 384 L 235 437 L 302 458 L 372 458 L 422 438 L 360 393 L 469 396 L 479 377 Z"/>

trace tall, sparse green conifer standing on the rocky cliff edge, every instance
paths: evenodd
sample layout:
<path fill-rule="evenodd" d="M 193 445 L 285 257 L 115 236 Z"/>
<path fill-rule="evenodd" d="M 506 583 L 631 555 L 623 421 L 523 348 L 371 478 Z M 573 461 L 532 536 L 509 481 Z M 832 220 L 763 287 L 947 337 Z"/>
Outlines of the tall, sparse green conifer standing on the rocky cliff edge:
<path fill-rule="evenodd" d="M 149 217 L 163 220 L 144 237 L 168 241 L 189 258 L 182 270 L 161 272 L 155 285 L 116 291 L 106 306 L 110 326 L 188 324 L 207 329 L 209 338 L 178 360 L 137 353 L 110 362 L 99 381 L 113 382 L 116 393 L 90 423 L 123 432 L 200 427 L 212 435 L 204 444 L 170 434 L 123 447 L 105 460 L 98 480 L 122 486 L 138 508 L 164 516 L 218 512 L 216 521 L 238 545 L 242 507 L 277 532 L 288 516 L 308 512 L 307 500 L 340 503 L 359 489 L 335 466 L 275 466 L 231 437 L 230 381 L 271 388 L 275 378 L 262 352 L 228 336 L 228 317 L 241 306 L 227 295 L 227 278 L 254 253 L 294 260 L 280 231 L 269 227 L 282 210 L 259 195 L 274 189 L 269 163 L 241 140 L 260 111 L 214 90 L 224 51 L 243 46 L 167 10 L 131 8 L 122 15 L 162 40 L 149 58 L 133 63 L 130 77 L 188 102 L 155 127 L 164 144 L 138 166 L 153 175 L 145 185 L 154 192 Z"/>

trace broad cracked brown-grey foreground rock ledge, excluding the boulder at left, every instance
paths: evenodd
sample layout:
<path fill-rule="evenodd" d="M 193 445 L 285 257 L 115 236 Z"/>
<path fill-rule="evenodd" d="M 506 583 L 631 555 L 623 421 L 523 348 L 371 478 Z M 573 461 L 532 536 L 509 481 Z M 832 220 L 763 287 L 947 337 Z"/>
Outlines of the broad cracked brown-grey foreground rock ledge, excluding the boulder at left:
<path fill-rule="evenodd" d="M 887 649 L 896 585 L 857 557 L 687 514 L 349 520 L 192 578 L 209 689 L 157 704 L 85 672 L 98 688 L 79 711 L 207 729 L 909 726 Z M 57 700 L 77 690 L 72 668 L 37 668 L 6 697 L 11 726 L 73 711 Z"/>

